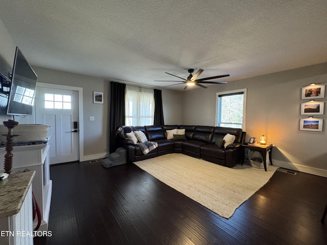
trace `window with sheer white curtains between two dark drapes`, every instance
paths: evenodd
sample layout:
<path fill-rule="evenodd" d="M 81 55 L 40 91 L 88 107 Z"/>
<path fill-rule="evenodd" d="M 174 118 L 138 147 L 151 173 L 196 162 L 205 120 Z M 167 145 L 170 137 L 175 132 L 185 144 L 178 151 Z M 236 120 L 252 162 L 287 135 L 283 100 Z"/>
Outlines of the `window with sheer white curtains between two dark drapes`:
<path fill-rule="evenodd" d="M 152 125 L 154 118 L 153 89 L 126 85 L 125 125 Z"/>

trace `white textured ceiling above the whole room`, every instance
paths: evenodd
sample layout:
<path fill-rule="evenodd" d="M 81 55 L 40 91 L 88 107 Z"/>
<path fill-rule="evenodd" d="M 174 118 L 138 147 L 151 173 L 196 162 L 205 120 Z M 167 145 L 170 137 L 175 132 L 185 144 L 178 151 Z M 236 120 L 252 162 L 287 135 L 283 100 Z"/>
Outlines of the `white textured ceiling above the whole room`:
<path fill-rule="evenodd" d="M 327 1 L 0 0 L 1 19 L 32 64 L 164 87 L 154 80 L 233 81 L 327 62 Z M 223 86 L 223 85 L 216 85 Z M 170 89 L 183 89 L 183 85 Z M 202 88 L 201 88 L 202 89 Z"/>

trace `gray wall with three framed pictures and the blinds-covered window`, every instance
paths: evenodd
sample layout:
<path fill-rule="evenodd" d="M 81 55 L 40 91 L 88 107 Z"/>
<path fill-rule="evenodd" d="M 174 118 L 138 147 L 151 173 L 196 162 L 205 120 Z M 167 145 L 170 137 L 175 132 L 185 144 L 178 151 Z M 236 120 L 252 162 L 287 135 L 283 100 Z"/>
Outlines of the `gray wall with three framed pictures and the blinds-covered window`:
<path fill-rule="evenodd" d="M 232 75 L 231 75 L 232 76 Z M 327 137 L 322 132 L 300 131 L 301 88 L 310 83 L 327 84 L 327 63 L 277 72 L 260 77 L 213 85 L 183 93 L 183 124 L 215 126 L 216 93 L 247 88 L 246 129 L 249 137 L 262 134 L 275 145 L 273 162 L 280 166 L 327 177 Z M 195 100 L 195 98 L 197 98 Z M 324 99 L 317 101 L 326 102 Z M 326 103 L 324 103 L 325 106 Z M 316 118 L 326 118 L 324 115 Z"/>

